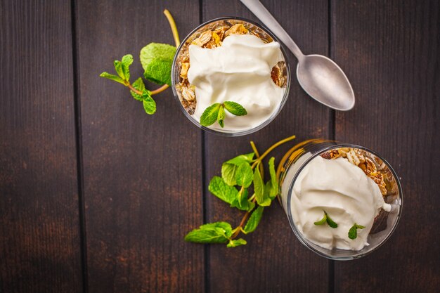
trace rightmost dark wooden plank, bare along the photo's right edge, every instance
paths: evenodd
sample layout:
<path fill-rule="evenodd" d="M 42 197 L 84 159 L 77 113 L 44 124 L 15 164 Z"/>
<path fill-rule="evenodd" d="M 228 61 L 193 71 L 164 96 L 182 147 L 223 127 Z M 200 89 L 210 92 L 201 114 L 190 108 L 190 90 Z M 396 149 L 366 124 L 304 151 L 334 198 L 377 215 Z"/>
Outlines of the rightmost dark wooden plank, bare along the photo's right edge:
<path fill-rule="evenodd" d="M 440 246 L 439 2 L 333 1 L 335 59 L 356 93 L 336 138 L 395 167 L 403 217 L 380 249 L 336 263 L 335 292 L 438 292 Z M 355 289 L 356 288 L 356 289 Z"/>

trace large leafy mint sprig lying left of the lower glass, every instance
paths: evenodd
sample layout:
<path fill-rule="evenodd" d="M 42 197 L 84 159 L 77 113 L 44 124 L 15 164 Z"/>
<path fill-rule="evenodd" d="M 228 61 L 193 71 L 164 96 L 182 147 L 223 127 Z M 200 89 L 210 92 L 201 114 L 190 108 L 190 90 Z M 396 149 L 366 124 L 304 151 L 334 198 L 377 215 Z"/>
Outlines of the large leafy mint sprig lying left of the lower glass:
<path fill-rule="evenodd" d="M 221 177 L 214 176 L 209 182 L 209 191 L 220 200 L 240 211 L 245 211 L 240 224 L 232 229 L 230 223 L 215 222 L 200 226 L 190 231 L 185 237 L 188 242 L 224 243 L 227 247 L 246 245 L 246 240 L 239 238 L 240 233 L 254 232 L 261 221 L 265 207 L 271 205 L 278 195 L 278 180 L 275 171 L 275 158 L 268 161 L 268 173 L 271 178 L 264 184 L 262 160 L 278 145 L 291 141 L 295 136 L 283 139 L 259 155 L 251 141 L 254 152 L 228 159 L 221 166 Z M 256 158 L 254 159 L 254 157 Z M 252 186 L 253 185 L 253 186 Z M 253 190 L 253 193 L 250 192 Z"/>

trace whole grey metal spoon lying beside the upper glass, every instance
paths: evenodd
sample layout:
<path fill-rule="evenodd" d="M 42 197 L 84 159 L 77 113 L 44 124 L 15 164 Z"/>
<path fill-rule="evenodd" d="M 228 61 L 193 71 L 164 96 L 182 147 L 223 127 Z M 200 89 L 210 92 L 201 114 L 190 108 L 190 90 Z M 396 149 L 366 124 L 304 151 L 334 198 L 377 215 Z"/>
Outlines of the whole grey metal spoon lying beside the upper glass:
<path fill-rule="evenodd" d="M 297 57 L 297 78 L 306 93 L 335 110 L 354 107 L 354 92 L 349 79 L 331 59 L 322 55 L 304 55 L 259 0 L 240 0 Z"/>

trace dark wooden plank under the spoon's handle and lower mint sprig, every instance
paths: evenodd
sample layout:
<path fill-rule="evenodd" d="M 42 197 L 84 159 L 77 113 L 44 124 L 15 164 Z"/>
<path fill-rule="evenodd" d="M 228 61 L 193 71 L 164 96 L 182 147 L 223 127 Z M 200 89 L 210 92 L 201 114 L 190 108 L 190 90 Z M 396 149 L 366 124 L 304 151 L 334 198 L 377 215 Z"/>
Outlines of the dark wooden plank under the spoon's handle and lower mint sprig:
<path fill-rule="evenodd" d="M 327 1 L 263 1 L 304 53 L 328 53 Z M 238 15 L 257 20 L 239 1 L 221 5 L 204 1 L 203 20 Z M 290 69 L 297 61 L 288 53 Z M 302 91 L 293 73 L 290 96 L 280 115 L 266 128 L 240 138 L 206 136 L 206 178 L 220 174 L 221 162 L 241 153 L 251 152 L 249 141 L 264 151 L 272 143 L 297 135 L 306 138 L 328 137 L 330 111 Z M 293 146 L 293 143 L 290 144 Z M 278 162 L 285 145 L 273 152 Z M 205 190 L 208 221 L 229 221 L 238 225 L 242 213 L 228 207 Z M 328 261 L 313 254 L 296 239 L 287 216 L 278 202 L 264 211 L 257 230 L 245 236 L 245 247 L 209 247 L 209 292 L 325 292 L 328 289 Z"/>

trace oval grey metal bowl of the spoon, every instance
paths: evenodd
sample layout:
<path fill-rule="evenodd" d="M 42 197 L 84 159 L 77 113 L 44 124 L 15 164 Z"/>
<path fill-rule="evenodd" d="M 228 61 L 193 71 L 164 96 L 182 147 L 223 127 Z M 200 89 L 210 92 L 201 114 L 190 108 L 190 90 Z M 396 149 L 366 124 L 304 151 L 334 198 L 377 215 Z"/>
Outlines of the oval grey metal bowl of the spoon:
<path fill-rule="evenodd" d="M 354 92 L 339 66 L 322 55 L 303 55 L 297 78 L 304 91 L 324 105 L 339 111 L 354 107 Z"/>

